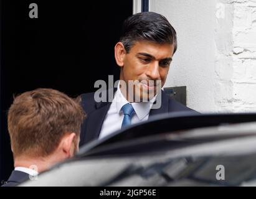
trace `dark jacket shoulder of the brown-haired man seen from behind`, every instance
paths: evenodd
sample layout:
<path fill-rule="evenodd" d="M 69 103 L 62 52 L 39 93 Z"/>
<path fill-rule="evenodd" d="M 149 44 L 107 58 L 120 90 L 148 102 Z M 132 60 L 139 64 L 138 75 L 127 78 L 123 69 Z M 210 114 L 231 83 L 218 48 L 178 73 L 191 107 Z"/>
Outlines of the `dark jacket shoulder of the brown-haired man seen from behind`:
<path fill-rule="evenodd" d="M 7 180 L 7 183 L 2 185 L 2 187 L 14 187 L 19 185 L 19 183 L 25 182 L 26 180 L 29 180 L 29 174 L 19 170 L 13 170 L 12 174 Z"/>

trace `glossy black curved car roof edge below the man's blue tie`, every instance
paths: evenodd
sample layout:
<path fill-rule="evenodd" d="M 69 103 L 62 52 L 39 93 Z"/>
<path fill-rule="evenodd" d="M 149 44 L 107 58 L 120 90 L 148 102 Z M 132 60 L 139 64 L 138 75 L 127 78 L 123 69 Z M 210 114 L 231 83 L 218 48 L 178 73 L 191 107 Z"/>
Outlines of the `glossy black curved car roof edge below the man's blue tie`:
<path fill-rule="evenodd" d="M 256 113 L 209 113 L 194 114 L 191 112 L 177 112 L 173 114 L 159 114 L 148 121 L 137 123 L 113 132 L 109 136 L 95 140 L 82 146 L 78 152 L 79 156 L 86 156 L 98 147 L 116 144 L 118 142 L 127 142 L 129 140 L 144 139 L 148 136 L 161 135 L 165 132 L 184 131 L 186 129 L 194 129 L 210 126 L 225 126 L 228 124 L 248 123 L 256 121 Z"/>

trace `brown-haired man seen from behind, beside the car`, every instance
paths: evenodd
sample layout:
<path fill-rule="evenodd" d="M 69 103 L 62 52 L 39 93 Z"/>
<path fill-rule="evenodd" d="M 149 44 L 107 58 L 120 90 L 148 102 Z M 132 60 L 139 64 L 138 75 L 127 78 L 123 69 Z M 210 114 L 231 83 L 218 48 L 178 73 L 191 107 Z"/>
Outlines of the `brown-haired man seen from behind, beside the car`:
<path fill-rule="evenodd" d="M 2 187 L 36 180 L 40 172 L 72 157 L 83 119 L 80 104 L 57 90 L 40 88 L 17 96 L 8 111 L 14 170 Z"/>

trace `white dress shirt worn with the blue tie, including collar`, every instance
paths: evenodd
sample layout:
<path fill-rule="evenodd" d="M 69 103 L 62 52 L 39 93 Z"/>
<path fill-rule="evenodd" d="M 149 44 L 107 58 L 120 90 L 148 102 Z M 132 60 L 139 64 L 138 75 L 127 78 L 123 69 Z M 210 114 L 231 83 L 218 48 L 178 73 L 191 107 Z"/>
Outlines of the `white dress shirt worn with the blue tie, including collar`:
<path fill-rule="evenodd" d="M 131 124 L 148 120 L 149 111 L 153 106 L 155 98 L 156 96 L 154 96 L 154 98 L 148 102 L 131 103 L 133 109 L 135 110 L 135 114 L 133 114 L 133 117 L 131 118 Z M 99 139 L 108 136 L 114 131 L 121 129 L 121 124 L 123 122 L 124 117 L 121 108 L 123 107 L 123 105 L 127 103 L 129 102 L 121 93 L 118 83 L 115 97 L 110 105 L 110 109 L 108 109 L 108 113 L 105 117 L 105 120 L 103 121 Z"/>

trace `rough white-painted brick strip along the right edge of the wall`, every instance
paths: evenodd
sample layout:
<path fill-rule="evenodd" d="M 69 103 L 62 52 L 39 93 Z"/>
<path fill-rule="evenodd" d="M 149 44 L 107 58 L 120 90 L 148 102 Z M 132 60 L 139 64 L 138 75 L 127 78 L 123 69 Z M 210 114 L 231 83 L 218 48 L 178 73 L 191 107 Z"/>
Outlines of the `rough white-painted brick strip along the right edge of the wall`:
<path fill-rule="evenodd" d="M 232 111 L 256 111 L 256 0 L 234 4 Z"/>

